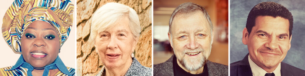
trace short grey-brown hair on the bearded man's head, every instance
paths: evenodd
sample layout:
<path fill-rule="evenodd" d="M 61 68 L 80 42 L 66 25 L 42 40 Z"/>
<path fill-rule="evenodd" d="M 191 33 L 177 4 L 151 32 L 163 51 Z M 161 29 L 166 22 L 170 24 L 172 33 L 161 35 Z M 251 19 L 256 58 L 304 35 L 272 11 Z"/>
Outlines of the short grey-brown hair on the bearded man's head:
<path fill-rule="evenodd" d="M 187 3 L 183 3 L 181 5 L 179 5 L 174 12 L 172 13 L 172 15 L 170 16 L 170 22 L 169 22 L 169 33 L 171 34 L 171 25 L 172 22 L 174 20 L 174 17 L 176 15 L 180 15 L 180 14 L 193 14 L 193 12 L 196 11 L 201 11 L 203 12 L 203 15 L 206 16 L 206 19 L 208 20 L 209 24 L 210 24 L 210 29 L 211 29 L 211 33 L 213 33 L 213 24 L 212 21 L 210 19 L 210 16 L 208 14 L 208 12 L 206 11 L 206 9 L 204 9 L 202 6 L 197 5 L 195 3 L 192 2 L 187 2 Z"/>

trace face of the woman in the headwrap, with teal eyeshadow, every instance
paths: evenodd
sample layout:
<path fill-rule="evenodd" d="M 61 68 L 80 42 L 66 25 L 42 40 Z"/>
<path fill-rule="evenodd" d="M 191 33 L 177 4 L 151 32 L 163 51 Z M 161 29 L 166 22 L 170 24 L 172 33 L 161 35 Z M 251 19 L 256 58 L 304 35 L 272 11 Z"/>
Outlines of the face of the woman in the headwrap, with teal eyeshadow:
<path fill-rule="evenodd" d="M 31 23 L 21 38 L 23 58 L 34 68 L 52 64 L 57 58 L 59 48 L 59 37 L 55 27 L 44 21 Z"/>

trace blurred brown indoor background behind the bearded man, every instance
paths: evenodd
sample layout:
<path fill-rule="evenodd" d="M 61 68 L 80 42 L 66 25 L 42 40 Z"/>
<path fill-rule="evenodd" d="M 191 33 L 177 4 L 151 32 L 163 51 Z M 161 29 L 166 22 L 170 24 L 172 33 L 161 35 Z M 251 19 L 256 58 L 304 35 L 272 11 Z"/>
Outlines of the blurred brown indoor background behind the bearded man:
<path fill-rule="evenodd" d="M 153 64 L 165 62 L 174 54 L 167 36 L 168 22 L 174 9 L 185 2 L 208 11 L 215 33 L 208 60 L 228 65 L 228 0 L 153 0 Z"/>

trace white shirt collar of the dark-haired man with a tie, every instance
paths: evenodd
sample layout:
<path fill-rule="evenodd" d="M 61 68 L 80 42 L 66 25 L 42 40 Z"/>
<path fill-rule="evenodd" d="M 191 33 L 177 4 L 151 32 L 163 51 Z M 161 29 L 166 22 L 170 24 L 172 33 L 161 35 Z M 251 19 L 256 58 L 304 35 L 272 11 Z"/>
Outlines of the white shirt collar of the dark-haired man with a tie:
<path fill-rule="evenodd" d="M 260 66 L 255 64 L 251 60 L 250 55 L 248 56 L 248 60 L 249 60 L 249 64 L 250 64 L 253 76 L 265 76 L 265 74 L 268 73 L 263 68 L 261 68 Z M 278 67 L 276 67 L 276 69 L 271 73 L 274 73 L 275 76 L 281 76 L 281 63 L 278 64 Z"/>

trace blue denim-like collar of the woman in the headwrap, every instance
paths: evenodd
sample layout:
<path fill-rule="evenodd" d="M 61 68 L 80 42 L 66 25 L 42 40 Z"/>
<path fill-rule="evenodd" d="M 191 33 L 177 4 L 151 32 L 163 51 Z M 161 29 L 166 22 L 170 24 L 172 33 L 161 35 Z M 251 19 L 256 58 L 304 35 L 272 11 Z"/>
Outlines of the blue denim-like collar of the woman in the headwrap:
<path fill-rule="evenodd" d="M 27 68 L 28 69 L 27 75 L 33 76 L 32 71 L 34 70 L 34 68 L 32 67 L 32 65 L 30 65 L 29 63 L 24 61 L 22 54 L 19 57 L 19 59 L 17 60 L 16 64 L 11 69 L 5 70 L 5 71 L 13 71 L 19 67 Z M 63 64 L 63 61 L 59 58 L 59 56 L 57 56 L 57 58 L 55 59 L 55 61 L 52 64 L 45 66 L 45 70 L 43 71 L 42 76 L 47 76 L 50 69 L 58 69 L 62 73 L 72 76 L 70 74 L 70 72 L 68 71 L 67 67 L 65 66 L 65 64 Z"/>

